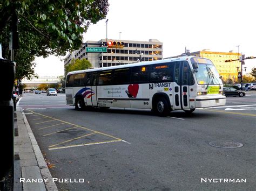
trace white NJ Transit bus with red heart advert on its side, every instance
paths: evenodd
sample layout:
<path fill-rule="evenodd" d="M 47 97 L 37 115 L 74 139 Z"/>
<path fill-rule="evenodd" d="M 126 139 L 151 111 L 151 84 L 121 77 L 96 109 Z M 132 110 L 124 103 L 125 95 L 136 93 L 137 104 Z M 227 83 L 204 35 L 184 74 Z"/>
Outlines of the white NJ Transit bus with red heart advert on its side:
<path fill-rule="evenodd" d="M 77 110 L 139 108 L 166 116 L 226 103 L 212 61 L 195 56 L 73 71 L 65 88 L 66 104 Z"/>

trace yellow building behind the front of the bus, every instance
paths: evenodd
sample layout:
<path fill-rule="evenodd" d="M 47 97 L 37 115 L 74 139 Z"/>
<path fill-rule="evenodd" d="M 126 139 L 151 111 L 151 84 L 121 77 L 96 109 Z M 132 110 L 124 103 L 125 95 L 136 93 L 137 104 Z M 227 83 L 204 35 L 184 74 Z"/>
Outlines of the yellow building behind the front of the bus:
<path fill-rule="evenodd" d="M 238 70 L 241 70 L 241 62 L 232 61 L 232 62 L 225 62 L 225 60 L 237 60 L 240 53 L 235 53 L 233 51 L 230 52 L 212 52 L 209 49 L 203 49 L 203 51 L 191 52 L 190 55 L 200 56 L 203 58 L 208 58 L 212 60 L 214 66 L 217 68 L 220 76 L 222 79 L 227 81 L 231 79 L 233 82 L 238 81 Z"/>

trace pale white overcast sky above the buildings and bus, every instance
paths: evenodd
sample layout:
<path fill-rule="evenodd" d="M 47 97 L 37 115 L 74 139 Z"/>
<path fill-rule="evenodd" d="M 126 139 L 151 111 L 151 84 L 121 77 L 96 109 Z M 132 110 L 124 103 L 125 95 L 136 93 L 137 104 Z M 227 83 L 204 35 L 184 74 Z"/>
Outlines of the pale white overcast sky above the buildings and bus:
<path fill-rule="evenodd" d="M 120 39 L 163 43 L 163 56 L 210 49 L 256 56 L 255 7 L 252 0 L 109 0 L 109 19 L 91 24 L 84 34 L 87 40 Z M 121 32 L 121 33 L 120 33 Z M 64 75 L 63 57 L 36 58 L 35 72 Z M 256 59 L 245 60 L 247 72 L 256 67 Z"/>

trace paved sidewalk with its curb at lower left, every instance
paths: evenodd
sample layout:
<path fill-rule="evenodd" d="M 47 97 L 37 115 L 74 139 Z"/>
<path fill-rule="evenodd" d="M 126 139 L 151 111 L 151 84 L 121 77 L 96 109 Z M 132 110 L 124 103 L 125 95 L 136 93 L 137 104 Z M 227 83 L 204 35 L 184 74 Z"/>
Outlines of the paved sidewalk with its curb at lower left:
<path fill-rule="evenodd" d="M 16 116 L 14 190 L 58 190 L 21 107 L 17 107 Z"/>

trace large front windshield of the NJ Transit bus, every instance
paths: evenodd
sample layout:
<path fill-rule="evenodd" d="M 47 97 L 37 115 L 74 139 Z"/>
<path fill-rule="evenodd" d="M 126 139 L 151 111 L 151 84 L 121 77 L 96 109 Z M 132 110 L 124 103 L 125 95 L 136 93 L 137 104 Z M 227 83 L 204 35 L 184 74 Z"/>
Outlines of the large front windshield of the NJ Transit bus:
<path fill-rule="evenodd" d="M 197 83 L 200 85 L 213 85 L 213 84 L 223 84 L 220 79 L 219 73 L 213 63 L 207 59 L 191 59 L 191 62 L 198 63 L 198 69 L 196 74 Z"/>

